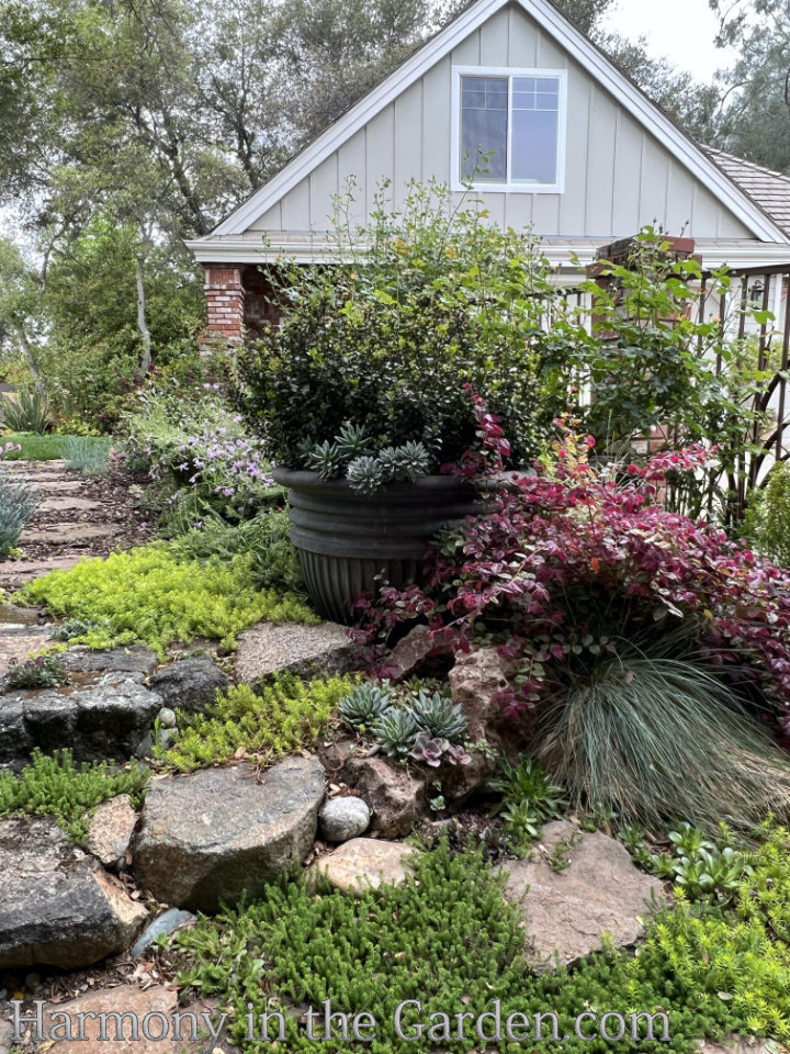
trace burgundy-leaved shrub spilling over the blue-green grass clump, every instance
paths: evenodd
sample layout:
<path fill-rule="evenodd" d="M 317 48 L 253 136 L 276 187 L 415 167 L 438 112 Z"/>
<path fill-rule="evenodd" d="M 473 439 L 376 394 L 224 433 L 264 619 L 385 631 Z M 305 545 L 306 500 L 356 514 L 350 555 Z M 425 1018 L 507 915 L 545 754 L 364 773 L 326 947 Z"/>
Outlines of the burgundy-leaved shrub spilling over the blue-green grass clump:
<path fill-rule="evenodd" d="M 568 664 L 591 668 L 618 639 L 682 624 L 699 654 L 748 697 L 767 699 L 790 733 L 790 574 L 661 504 L 672 474 L 695 472 L 715 452 L 692 446 L 599 468 L 594 440 L 558 421 L 555 460 L 504 475 L 499 423 L 474 404 L 482 453 L 460 472 L 485 471 L 485 512 L 431 551 L 426 586 L 384 590 L 375 607 L 362 602 L 369 640 L 421 617 L 453 650 L 497 644 L 516 671 L 500 703 L 518 716 L 562 688 Z"/>

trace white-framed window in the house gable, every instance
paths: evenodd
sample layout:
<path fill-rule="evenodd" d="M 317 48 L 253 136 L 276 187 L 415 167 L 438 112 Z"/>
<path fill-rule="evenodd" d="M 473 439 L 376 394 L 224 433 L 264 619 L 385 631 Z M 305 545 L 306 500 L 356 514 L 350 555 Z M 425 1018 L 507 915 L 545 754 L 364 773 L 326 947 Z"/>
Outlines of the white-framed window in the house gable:
<path fill-rule="evenodd" d="M 567 74 L 453 69 L 455 189 L 563 192 Z"/>

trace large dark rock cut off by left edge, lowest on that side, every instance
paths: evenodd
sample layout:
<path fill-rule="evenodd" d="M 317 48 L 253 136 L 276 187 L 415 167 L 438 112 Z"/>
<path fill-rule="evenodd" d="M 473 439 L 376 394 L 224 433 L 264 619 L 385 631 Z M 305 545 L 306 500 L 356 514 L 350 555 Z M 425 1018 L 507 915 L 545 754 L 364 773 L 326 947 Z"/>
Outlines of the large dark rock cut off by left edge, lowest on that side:
<path fill-rule="evenodd" d="M 148 913 L 52 820 L 0 821 L 0 966 L 90 966 Z"/>

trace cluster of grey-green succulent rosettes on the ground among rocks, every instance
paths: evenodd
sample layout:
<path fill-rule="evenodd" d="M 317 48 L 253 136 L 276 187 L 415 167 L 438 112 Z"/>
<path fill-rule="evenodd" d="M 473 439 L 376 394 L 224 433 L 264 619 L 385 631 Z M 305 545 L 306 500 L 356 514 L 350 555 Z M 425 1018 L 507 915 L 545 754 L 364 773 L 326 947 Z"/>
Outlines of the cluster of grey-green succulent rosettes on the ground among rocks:
<path fill-rule="evenodd" d="M 381 744 L 388 758 L 411 759 L 432 769 L 465 765 L 466 718 L 449 695 L 424 687 L 396 696 L 390 684 L 362 684 L 338 708 L 351 729 Z"/>

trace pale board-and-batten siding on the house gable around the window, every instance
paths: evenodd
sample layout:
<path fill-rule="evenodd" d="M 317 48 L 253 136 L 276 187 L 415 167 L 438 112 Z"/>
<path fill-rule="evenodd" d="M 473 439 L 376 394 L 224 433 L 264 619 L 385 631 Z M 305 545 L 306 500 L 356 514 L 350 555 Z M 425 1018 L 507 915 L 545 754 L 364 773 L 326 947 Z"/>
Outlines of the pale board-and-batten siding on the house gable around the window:
<path fill-rule="evenodd" d="M 474 191 L 492 221 L 544 237 L 612 240 L 659 224 L 688 237 L 754 235 L 521 8 L 500 9 L 258 218 L 250 232 L 320 234 L 353 180 L 363 223 L 385 180 L 396 205 L 409 180 L 452 183 L 452 67 L 566 69 L 565 191 Z"/>

